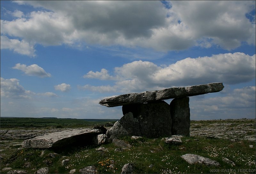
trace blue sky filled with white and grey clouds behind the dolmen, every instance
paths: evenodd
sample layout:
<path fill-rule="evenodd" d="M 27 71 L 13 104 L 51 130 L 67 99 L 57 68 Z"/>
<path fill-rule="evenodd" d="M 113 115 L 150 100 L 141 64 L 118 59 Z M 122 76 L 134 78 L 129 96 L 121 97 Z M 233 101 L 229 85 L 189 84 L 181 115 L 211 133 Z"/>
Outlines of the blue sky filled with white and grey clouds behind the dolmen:
<path fill-rule="evenodd" d="M 190 119 L 255 118 L 255 1 L 0 3 L 1 117 L 120 119 L 99 101 L 221 82 Z"/>

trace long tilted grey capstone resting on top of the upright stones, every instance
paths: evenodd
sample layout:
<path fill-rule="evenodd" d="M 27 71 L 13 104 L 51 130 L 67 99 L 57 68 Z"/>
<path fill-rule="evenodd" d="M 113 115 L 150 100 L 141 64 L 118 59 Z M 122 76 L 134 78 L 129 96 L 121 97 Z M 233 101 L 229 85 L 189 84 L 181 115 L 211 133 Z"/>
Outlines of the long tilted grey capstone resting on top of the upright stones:
<path fill-rule="evenodd" d="M 135 103 L 148 103 L 157 100 L 167 100 L 171 98 L 190 97 L 219 92 L 224 88 L 222 83 L 208 83 L 190 87 L 168 88 L 159 91 L 145 91 L 141 93 L 129 93 L 116 97 L 105 98 L 99 102 L 107 107 L 130 105 Z"/>

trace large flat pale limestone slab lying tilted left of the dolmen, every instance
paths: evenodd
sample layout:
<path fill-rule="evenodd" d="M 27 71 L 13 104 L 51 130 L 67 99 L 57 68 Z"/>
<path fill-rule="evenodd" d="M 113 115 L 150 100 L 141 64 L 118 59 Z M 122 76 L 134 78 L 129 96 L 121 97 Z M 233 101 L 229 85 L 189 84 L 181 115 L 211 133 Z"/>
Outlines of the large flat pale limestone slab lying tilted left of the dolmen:
<path fill-rule="evenodd" d="M 99 129 L 71 129 L 38 136 L 23 141 L 24 148 L 54 148 L 63 147 L 73 143 L 92 142 L 93 137 L 101 134 Z"/>

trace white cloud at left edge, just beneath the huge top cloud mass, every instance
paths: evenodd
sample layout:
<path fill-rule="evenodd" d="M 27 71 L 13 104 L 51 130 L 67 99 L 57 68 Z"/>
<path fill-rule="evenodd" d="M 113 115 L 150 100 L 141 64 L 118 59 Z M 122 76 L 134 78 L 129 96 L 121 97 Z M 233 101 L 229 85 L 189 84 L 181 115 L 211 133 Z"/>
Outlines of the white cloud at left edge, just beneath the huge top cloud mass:
<path fill-rule="evenodd" d="M 0 44 L 1 49 L 10 49 L 19 54 L 31 57 L 35 56 L 34 46 L 25 40 L 9 39 L 8 37 L 1 35 Z"/>

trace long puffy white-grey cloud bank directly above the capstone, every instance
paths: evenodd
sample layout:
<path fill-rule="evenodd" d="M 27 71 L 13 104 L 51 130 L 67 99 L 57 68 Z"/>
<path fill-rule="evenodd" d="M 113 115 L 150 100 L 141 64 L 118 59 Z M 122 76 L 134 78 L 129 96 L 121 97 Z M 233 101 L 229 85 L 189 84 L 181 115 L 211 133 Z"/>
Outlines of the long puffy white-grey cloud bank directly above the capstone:
<path fill-rule="evenodd" d="M 136 92 L 212 82 L 239 84 L 255 78 L 255 64 L 255 54 L 250 56 L 244 53 L 186 58 L 162 67 L 152 62 L 134 61 L 115 68 L 115 75 L 111 76 L 116 80 L 113 90 L 111 86 L 90 85 L 85 85 L 84 89 L 100 92 L 114 90 Z M 102 74 L 110 76 L 107 70 L 102 72 L 104 73 L 90 71 L 90 78 L 102 79 L 100 76 Z M 104 87 L 109 91 L 102 90 Z"/>

